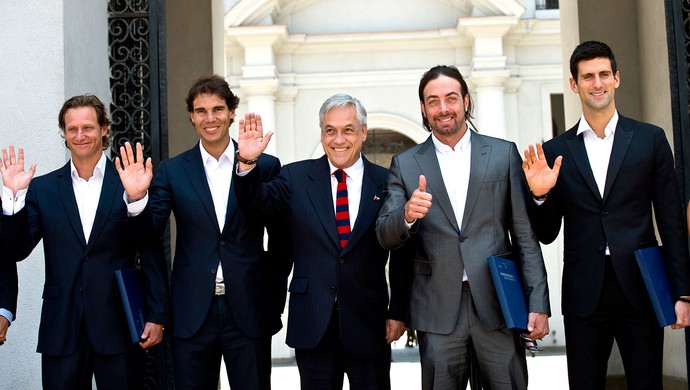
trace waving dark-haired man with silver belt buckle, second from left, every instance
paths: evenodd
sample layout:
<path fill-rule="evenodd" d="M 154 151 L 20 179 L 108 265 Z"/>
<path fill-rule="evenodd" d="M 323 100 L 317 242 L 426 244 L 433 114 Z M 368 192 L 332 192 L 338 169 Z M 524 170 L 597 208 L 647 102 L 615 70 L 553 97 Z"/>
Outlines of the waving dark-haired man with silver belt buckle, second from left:
<path fill-rule="evenodd" d="M 197 80 L 187 95 L 189 119 L 200 142 L 163 161 L 152 180 L 131 145 L 122 148 L 120 172 L 136 215 L 147 203 L 149 228 L 162 235 L 172 212 L 177 227 L 173 261 L 172 348 L 179 389 L 217 389 L 221 356 L 234 389 L 269 389 L 271 336 L 281 328 L 290 262 L 269 223 L 237 207 L 232 179 L 235 142 L 230 125 L 239 98 L 219 76 Z M 260 181 L 278 174 L 280 162 L 261 157 Z M 151 188 L 147 189 L 151 184 Z"/>

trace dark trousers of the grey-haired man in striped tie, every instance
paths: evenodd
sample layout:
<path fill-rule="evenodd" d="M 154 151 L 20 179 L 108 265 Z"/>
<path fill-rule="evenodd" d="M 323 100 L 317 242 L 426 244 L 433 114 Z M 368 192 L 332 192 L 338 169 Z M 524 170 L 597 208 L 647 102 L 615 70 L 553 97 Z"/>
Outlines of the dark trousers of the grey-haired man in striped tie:
<path fill-rule="evenodd" d="M 334 309 L 328 329 L 316 348 L 295 350 L 301 389 L 341 390 L 347 374 L 353 390 L 389 390 L 390 349 L 380 358 L 347 352 L 340 340 L 339 322 L 339 312 Z M 383 337 L 382 342 L 385 342 Z"/>

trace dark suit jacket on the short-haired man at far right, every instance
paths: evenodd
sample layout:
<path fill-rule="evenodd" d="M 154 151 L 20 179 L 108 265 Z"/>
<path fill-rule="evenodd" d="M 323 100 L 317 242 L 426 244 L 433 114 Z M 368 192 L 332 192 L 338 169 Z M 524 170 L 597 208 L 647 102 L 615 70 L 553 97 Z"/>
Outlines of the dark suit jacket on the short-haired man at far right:
<path fill-rule="evenodd" d="M 671 148 L 662 129 L 619 116 L 604 196 L 597 188 L 577 125 L 544 144 L 552 166 L 563 165 L 547 200 L 533 207 L 534 228 L 552 242 L 564 224 L 563 314 L 584 317 L 597 306 L 608 244 L 611 262 L 630 304 L 650 301 L 633 251 L 656 245 L 652 206 L 676 296 L 690 294 L 685 222 Z"/>

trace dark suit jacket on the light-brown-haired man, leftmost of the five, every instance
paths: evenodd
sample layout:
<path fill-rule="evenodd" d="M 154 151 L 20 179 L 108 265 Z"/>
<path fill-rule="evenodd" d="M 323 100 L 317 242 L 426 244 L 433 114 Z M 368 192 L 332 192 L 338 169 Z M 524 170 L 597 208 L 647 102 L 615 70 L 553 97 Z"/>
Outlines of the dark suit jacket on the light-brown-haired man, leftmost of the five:
<path fill-rule="evenodd" d="M 160 242 L 131 228 L 122 200 L 124 188 L 111 161 L 106 162 L 96 218 L 86 243 L 72 188 L 70 163 L 34 178 L 26 206 L 3 216 L 3 246 L 12 261 L 29 256 L 43 239 L 45 285 L 38 352 L 69 355 L 85 327 L 93 349 L 101 354 L 129 351 L 132 341 L 115 271 L 135 266 L 137 249 L 145 274 L 146 321 L 165 323 L 165 262 L 150 249 Z"/>

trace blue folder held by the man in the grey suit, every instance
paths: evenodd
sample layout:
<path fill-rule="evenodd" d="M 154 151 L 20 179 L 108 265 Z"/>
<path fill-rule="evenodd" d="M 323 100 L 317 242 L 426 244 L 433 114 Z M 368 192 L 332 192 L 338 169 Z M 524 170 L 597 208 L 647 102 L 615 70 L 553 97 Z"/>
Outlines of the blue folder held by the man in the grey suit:
<path fill-rule="evenodd" d="M 527 301 L 517 264 L 501 256 L 490 256 L 487 260 L 506 327 L 527 330 Z"/>

